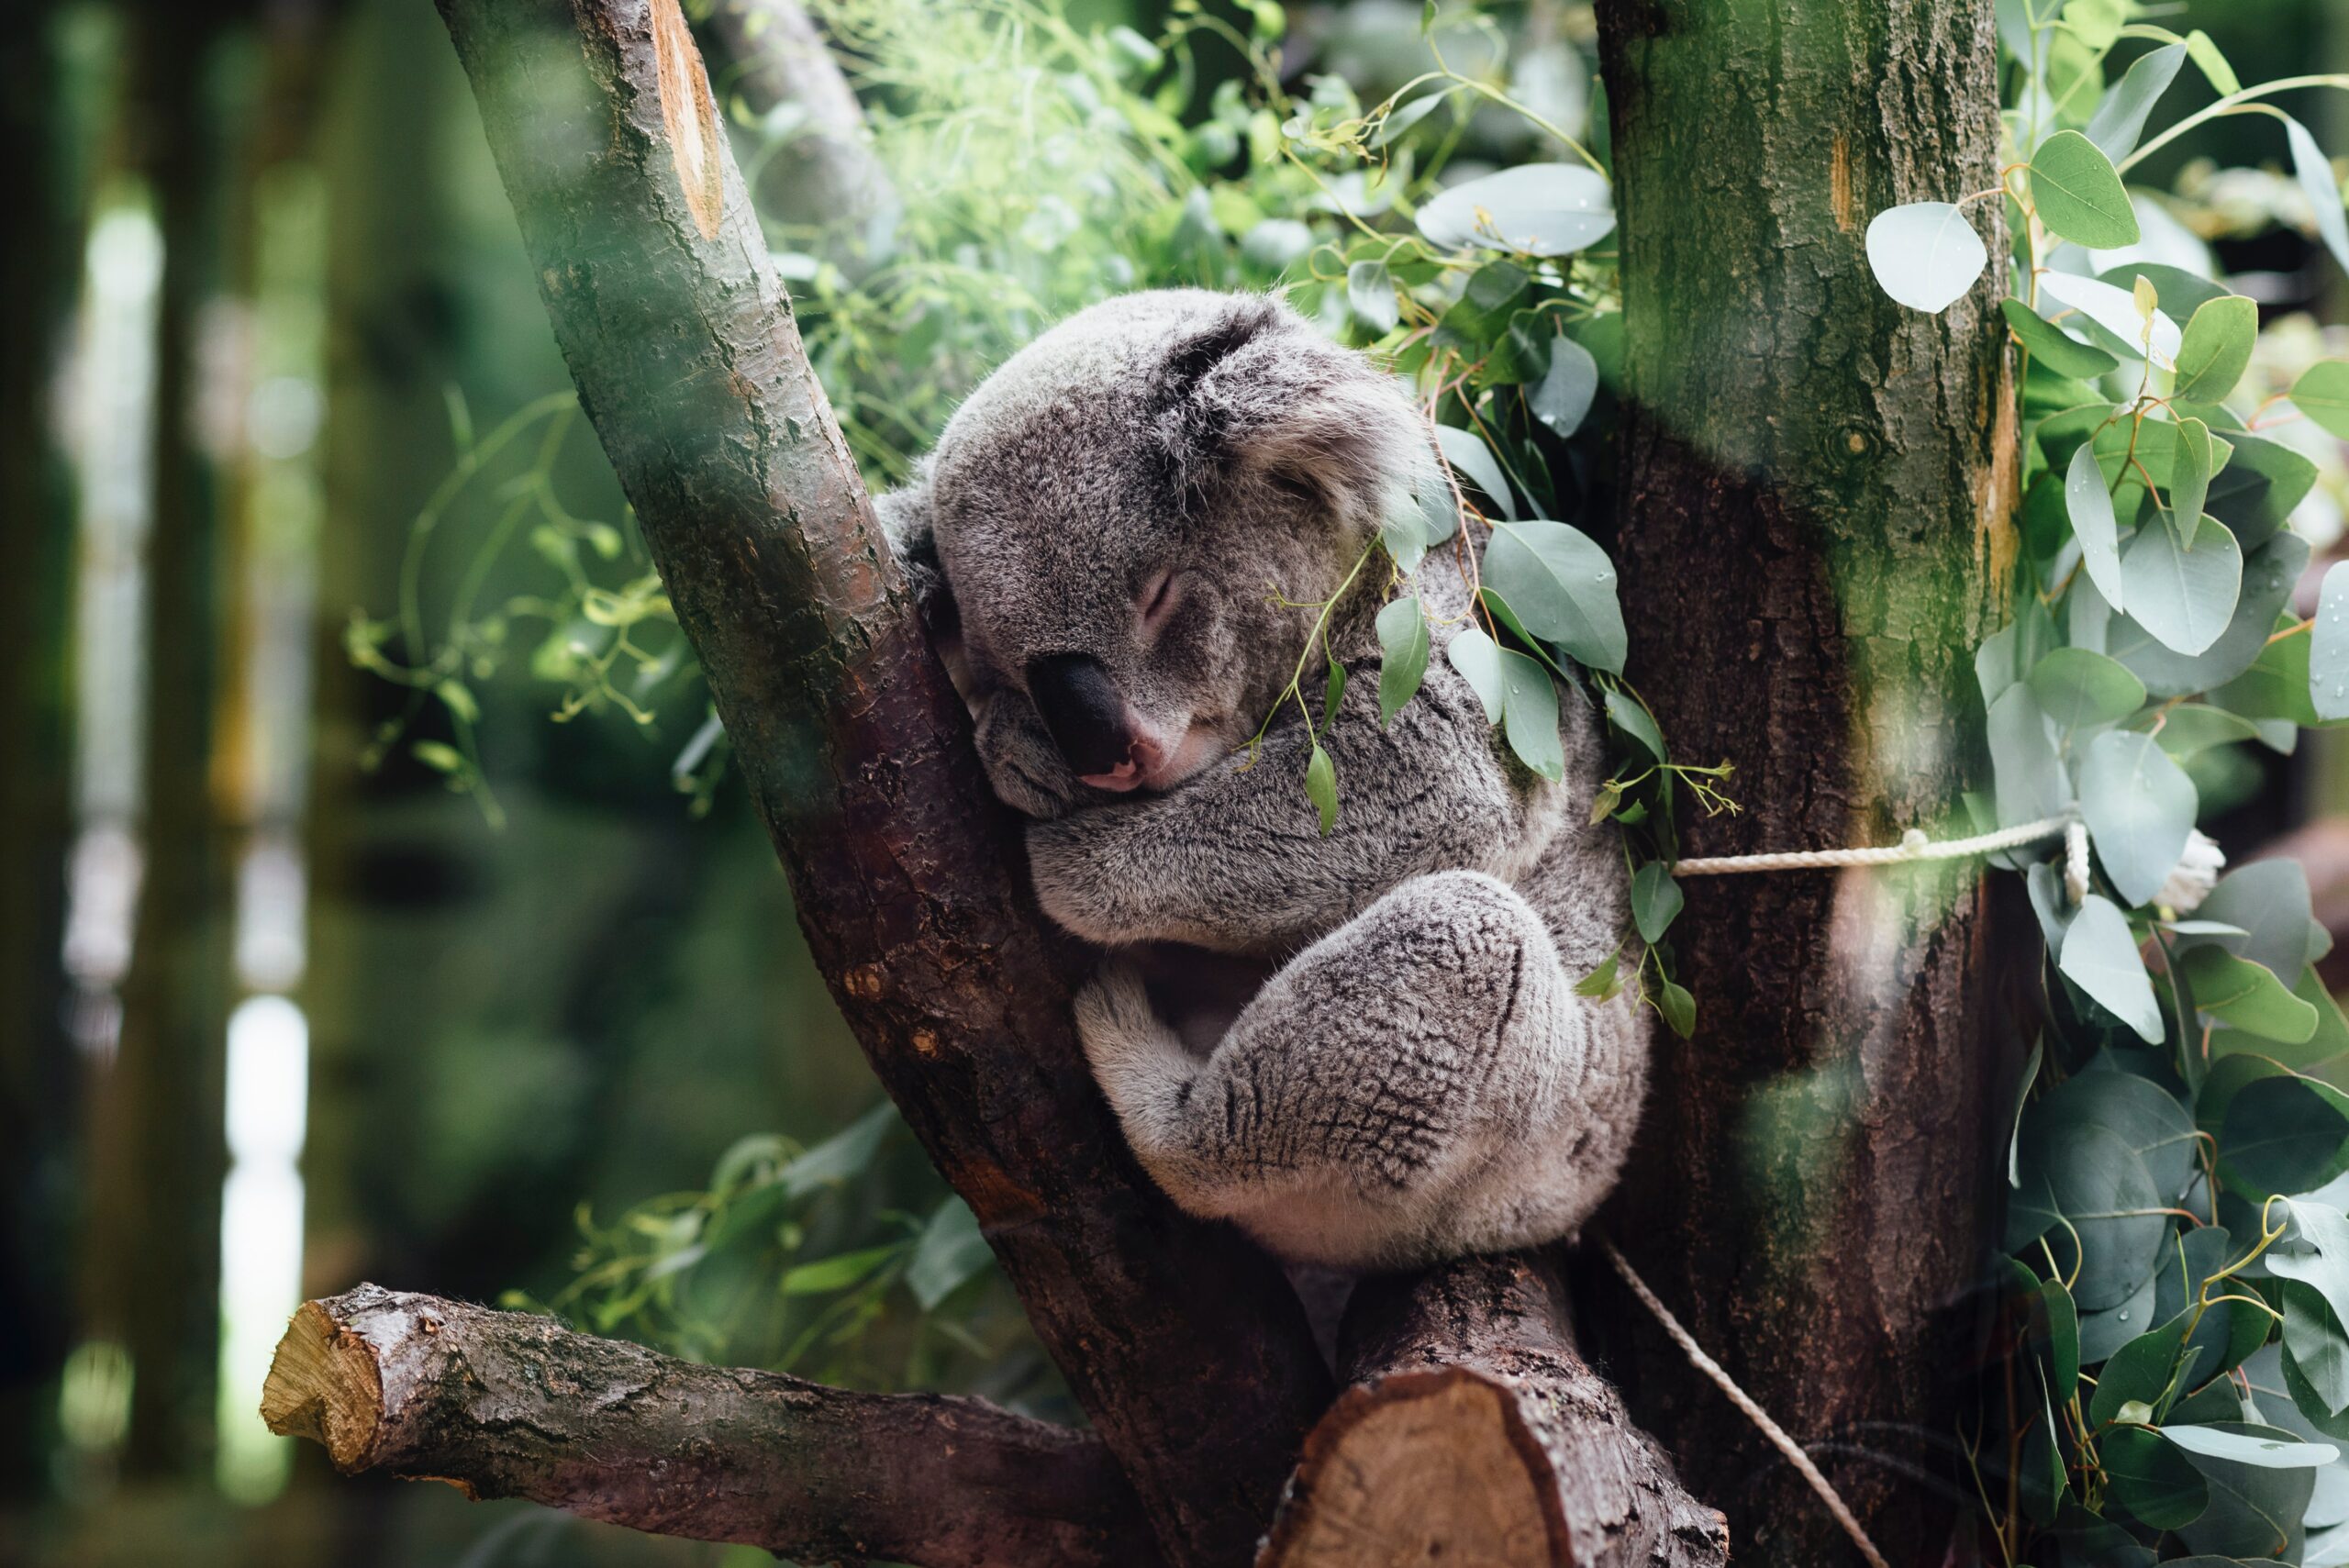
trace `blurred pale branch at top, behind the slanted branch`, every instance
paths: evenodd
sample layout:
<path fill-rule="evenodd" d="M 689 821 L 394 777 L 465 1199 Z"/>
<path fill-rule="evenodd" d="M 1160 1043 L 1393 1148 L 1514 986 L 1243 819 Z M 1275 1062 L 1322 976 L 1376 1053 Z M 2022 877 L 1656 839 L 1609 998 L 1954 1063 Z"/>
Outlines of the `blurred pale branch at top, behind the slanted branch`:
<path fill-rule="evenodd" d="M 778 223 L 824 235 L 824 254 L 860 277 L 897 232 L 897 183 L 874 155 L 857 94 L 799 0 L 719 0 L 709 26 L 733 61 L 721 80 L 754 115 L 780 106 L 799 124 L 756 171 Z"/>

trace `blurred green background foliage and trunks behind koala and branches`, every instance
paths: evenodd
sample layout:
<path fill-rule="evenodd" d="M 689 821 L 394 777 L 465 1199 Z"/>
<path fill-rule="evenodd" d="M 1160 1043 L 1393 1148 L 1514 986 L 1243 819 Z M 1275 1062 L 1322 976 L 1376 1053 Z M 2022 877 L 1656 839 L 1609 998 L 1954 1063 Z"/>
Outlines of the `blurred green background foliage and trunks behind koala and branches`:
<path fill-rule="evenodd" d="M 1369 343 L 1388 204 L 1557 157 L 1539 122 L 1604 157 L 1581 5 L 1433 49 L 1407 0 L 810 9 L 895 200 L 763 216 L 876 486 L 1083 303 L 1285 282 Z M 2178 9 L 2246 80 L 2349 59 L 2333 0 Z M 766 190 L 810 127 L 695 21 Z M 28 0 L 0 115 L 0 1561 L 766 1561 L 263 1434 L 284 1312 L 357 1279 L 1066 1415 L 801 946 L 432 9 Z M 2140 181 L 2314 359 L 2271 148 Z M 1405 326 L 1442 272 L 1395 256 Z M 1522 451 L 1607 526 L 1602 418 Z M 2229 845 L 2349 810 L 2318 744 L 2201 784 Z"/>

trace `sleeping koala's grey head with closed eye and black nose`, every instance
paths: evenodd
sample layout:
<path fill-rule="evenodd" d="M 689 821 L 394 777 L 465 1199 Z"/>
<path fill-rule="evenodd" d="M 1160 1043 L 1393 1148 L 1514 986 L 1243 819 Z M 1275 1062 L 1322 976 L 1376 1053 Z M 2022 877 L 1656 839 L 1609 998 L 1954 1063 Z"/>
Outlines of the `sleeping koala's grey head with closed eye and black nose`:
<path fill-rule="evenodd" d="M 1337 592 L 1431 472 L 1400 383 L 1271 298 L 1135 293 L 1015 354 L 928 474 L 1005 798 L 1172 789 L 1226 756 L 1313 622 L 1276 589 Z"/>

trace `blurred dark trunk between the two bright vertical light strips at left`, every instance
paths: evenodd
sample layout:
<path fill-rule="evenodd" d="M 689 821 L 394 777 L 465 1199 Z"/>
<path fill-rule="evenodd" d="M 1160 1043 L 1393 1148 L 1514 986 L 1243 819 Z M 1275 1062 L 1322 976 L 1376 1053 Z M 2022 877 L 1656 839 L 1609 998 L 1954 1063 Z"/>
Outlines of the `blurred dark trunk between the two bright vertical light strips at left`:
<path fill-rule="evenodd" d="M 96 1068 L 89 1150 L 89 1331 L 132 1357 L 127 1474 L 209 1460 L 221 1275 L 221 1063 L 228 845 L 214 810 L 221 507 L 190 423 L 200 324 L 218 286 L 223 127 L 211 5 L 134 16 L 132 164 L 162 232 L 153 528 L 146 556 L 146 876 L 122 1035 Z"/>

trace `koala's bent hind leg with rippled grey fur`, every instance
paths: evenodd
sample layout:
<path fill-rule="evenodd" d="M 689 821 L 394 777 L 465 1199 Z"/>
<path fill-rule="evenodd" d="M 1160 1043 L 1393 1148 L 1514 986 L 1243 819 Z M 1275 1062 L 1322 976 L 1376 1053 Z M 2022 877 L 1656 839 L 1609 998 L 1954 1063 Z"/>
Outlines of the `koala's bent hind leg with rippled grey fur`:
<path fill-rule="evenodd" d="M 1571 993 L 1541 915 L 1473 871 L 1414 878 L 1308 946 L 1205 1059 L 1125 965 L 1076 1019 L 1128 1141 L 1182 1207 L 1341 1268 L 1579 1223 L 1560 1218 L 1576 1195 L 1555 1190 L 1557 1138 L 1574 1143 L 1567 1101 L 1593 1042 L 1626 1035 Z"/>

